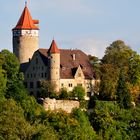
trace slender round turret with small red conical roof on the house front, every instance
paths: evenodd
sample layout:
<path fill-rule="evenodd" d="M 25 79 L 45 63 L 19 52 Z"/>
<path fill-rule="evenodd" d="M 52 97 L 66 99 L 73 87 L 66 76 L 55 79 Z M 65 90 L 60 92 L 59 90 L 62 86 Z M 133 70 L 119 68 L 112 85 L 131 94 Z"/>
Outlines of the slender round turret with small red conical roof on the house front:
<path fill-rule="evenodd" d="M 56 85 L 56 91 L 60 89 L 60 50 L 57 48 L 55 40 L 52 41 L 48 50 L 49 79 Z"/>

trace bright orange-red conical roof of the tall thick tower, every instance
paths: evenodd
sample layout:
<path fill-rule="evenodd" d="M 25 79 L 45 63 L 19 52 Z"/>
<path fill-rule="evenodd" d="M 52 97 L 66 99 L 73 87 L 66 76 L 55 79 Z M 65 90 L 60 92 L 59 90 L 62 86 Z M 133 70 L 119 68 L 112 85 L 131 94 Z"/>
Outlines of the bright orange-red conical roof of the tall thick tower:
<path fill-rule="evenodd" d="M 25 6 L 22 15 L 14 29 L 35 29 L 38 30 L 39 28 L 35 25 L 38 24 L 39 20 L 33 20 L 31 14 L 28 10 L 27 5 Z"/>

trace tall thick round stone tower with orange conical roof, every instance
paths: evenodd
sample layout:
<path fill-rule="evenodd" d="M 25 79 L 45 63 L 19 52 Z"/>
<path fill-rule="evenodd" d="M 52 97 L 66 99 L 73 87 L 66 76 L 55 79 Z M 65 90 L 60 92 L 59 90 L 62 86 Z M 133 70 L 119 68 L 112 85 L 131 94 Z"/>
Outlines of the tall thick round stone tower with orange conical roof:
<path fill-rule="evenodd" d="M 27 4 L 13 32 L 13 53 L 19 62 L 26 63 L 32 58 L 33 53 L 38 50 L 38 20 L 33 20 Z"/>

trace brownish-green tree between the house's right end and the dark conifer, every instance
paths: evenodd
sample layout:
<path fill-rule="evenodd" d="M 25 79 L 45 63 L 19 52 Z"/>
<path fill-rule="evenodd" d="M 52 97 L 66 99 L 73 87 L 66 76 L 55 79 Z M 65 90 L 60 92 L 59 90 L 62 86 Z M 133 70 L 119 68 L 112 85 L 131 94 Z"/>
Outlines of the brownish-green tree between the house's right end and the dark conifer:
<path fill-rule="evenodd" d="M 99 98 L 103 100 L 115 100 L 119 69 L 111 64 L 102 64 Z"/>

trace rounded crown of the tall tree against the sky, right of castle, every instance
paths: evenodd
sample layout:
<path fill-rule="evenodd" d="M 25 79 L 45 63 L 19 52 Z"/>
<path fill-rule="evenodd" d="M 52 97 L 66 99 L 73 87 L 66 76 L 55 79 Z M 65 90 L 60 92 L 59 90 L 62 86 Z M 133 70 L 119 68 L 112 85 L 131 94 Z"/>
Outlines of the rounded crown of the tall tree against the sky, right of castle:
<path fill-rule="evenodd" d="M 106 48 L 105 55 L 101 61 L 103 64 L 112 64 L 113 66 L 121 68 L 122 66 L 128 66 L 128 59 L 134 54 L 136 54 L 136 52 L 122 40 L 117 40 Z"/>

